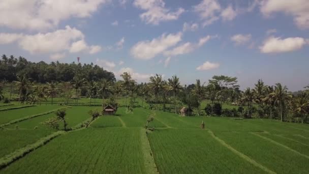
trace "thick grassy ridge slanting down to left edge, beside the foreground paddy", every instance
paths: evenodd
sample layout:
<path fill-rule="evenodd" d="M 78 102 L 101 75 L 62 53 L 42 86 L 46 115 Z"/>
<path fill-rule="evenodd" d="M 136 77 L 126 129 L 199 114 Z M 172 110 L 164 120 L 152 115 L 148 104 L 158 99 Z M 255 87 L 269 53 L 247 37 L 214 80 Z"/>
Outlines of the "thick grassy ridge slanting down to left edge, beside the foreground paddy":
<path fill-rule="evenodd" d="M 65 134 L 65 133 L 66 133 L 65 131 L 54 132 L 54 133 L 52 133 L 52 134 L 50 134 L 46 137 L 39 139 L 37 142 L 35 142 L 33 144 L 28 144 L 27 146 L 20 148 L 20 149 L 14 151 L 11 154 L 6 155 L 5 157 L 0 159 L 0 170 L 7 167 L 8 165 L 13 163 L 14 161 L 22 158 L 26 154 L 44 146 L 44 144 L 46 144 L 50 140 L 54 139 L 55 137 L 62 135 L 62 134 Z"/>

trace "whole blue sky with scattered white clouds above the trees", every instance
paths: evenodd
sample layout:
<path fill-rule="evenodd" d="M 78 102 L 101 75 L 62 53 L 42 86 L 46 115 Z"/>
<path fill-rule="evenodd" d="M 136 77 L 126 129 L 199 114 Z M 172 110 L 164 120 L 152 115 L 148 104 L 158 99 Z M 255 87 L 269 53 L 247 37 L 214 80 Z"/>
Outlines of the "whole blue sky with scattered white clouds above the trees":
<path fill-rule="evenodd" d="M 0 54 L 94 63 L 138 82 L 309 84 L 307 0 L 1 0 Z"/>

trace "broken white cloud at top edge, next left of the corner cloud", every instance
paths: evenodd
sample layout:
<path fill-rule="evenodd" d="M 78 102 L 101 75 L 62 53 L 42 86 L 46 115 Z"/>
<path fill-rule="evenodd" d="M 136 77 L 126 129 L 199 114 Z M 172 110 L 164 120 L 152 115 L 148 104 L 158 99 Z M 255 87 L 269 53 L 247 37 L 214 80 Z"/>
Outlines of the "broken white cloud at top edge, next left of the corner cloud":
<path fill-rule="evenodd" d="M 233 20 L 237 16 L 236 10 L 229 5 L 223 9 L 217 0 L 203 0 L 200 4 L 193 7 L 203 20 L 203 26 L 212 24 L 222 18 L 223 20 Z"/>

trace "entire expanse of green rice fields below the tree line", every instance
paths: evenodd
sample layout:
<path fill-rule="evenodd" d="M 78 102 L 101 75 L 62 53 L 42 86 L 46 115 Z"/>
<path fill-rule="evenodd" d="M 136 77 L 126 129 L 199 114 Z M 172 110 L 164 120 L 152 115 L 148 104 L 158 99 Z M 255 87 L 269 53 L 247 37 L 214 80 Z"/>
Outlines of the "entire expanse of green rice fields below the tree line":
<path fill-rule="evenodd" d="M 0 123 L 59 108 L 42 105 L 0 112 Z M 62 106 L 63 107 L 63 106 Z M 72 128 L 90 119 L 100 106 L 71 106 Z M 55 114 L 4 126 L 0 162 L 56 130 L 42 123 Z M 144 128 L 149 115 L 154 120 Z M 205 129 L 200 128 L 201 122 Z M 60 123 L 60 129 L 63 129 Z M 144 141 L 148 141 L 145 143 Z M 101 115 L 89 127 L 68 131 L 20 159 L 1 173 L 308 173 L 309 126 L 268 119 L 180 117 L 136 107 Z"/>

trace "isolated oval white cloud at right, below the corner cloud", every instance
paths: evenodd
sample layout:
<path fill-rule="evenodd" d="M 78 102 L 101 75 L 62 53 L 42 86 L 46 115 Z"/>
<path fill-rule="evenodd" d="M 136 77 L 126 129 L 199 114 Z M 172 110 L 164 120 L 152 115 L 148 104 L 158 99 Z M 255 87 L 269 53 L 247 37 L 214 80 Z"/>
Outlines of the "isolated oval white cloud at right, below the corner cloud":
<path fill-rule="evenodd" d="M 260 50 L 263 53 L 279 53 L 279 52 L 291 52 L 301 49 L 306 44 L 303 38 L 275 38 L 273 36 L 266 39 Z"/>

